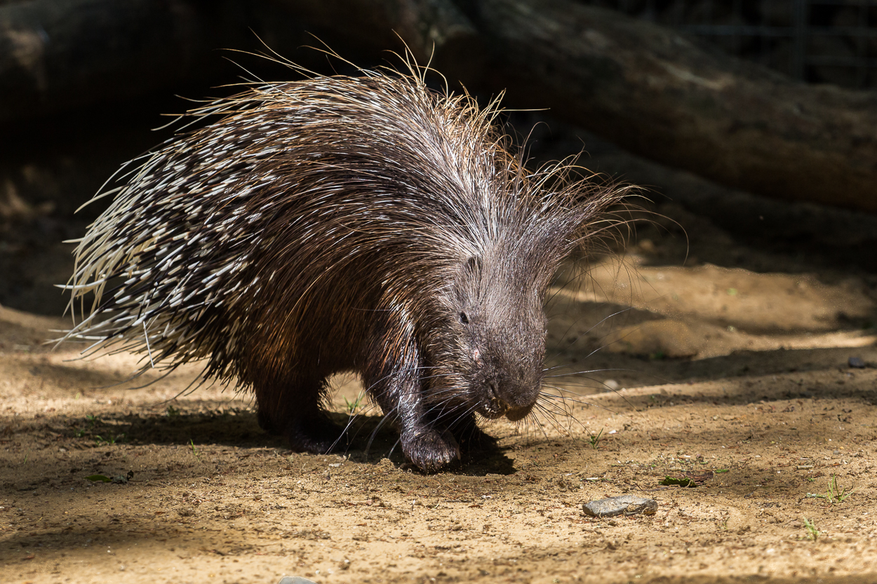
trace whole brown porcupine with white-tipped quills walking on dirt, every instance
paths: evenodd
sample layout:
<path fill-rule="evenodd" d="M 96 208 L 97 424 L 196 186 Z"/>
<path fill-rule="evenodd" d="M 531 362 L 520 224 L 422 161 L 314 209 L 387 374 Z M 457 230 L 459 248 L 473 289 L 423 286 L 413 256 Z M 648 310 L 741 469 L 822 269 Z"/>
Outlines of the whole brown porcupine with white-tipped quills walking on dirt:
<path fill-rule="evenodd" d="M 621 195 L 568 164 L 527 170 L 498 99 L 424 74 L 310 74 L 189 111 L 219 119 L 95 197 L 115 193 L 75 252 L 70 305 L 95 300 L 67 338 L 142 353 L 139 373 L 206 360 L 296 451 L 339 438 L 322 403 L 341 371 L 425 472 L 486 438 L 476 414 L 526 417 L 546 288 Z"/>

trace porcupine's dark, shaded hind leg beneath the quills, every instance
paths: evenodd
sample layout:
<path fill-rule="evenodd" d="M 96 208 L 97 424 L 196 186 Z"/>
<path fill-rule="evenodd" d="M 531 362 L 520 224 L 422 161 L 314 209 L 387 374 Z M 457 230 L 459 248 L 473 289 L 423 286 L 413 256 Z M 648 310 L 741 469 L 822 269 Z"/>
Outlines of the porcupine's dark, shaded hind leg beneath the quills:
<path fill-rule="evenodd" d="M 323 379 L 296 377 L 271 386 L 256 385 L 259 425 L 262 430 L 289 440 L 296 452 L 324 454 L 339 443 L 341 428 L 323 409 Z"/>

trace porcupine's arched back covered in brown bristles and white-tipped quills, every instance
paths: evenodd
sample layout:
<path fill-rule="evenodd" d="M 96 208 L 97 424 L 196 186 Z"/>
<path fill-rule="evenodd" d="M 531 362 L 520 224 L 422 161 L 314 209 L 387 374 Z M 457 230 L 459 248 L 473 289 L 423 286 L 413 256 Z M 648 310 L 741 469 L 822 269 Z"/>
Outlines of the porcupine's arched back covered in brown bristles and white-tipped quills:
<path fill-rule="evenodd" d="M 417 76 L 271 84 L 192 115 L 215 113 L 149 154 L 82 239 L 71 304 L 96 302 L 69 338 L 148 353 L 143 370 L 208 358 L 224 381 L 282 379 L 292 356 L 332 360 L 303 336 L 355 355 L 370 310 L 429 327 L 467 258 L 506 253 L 527 279 L 569 235 L 572 196 L 535 195 L 496 110 Z"/>

